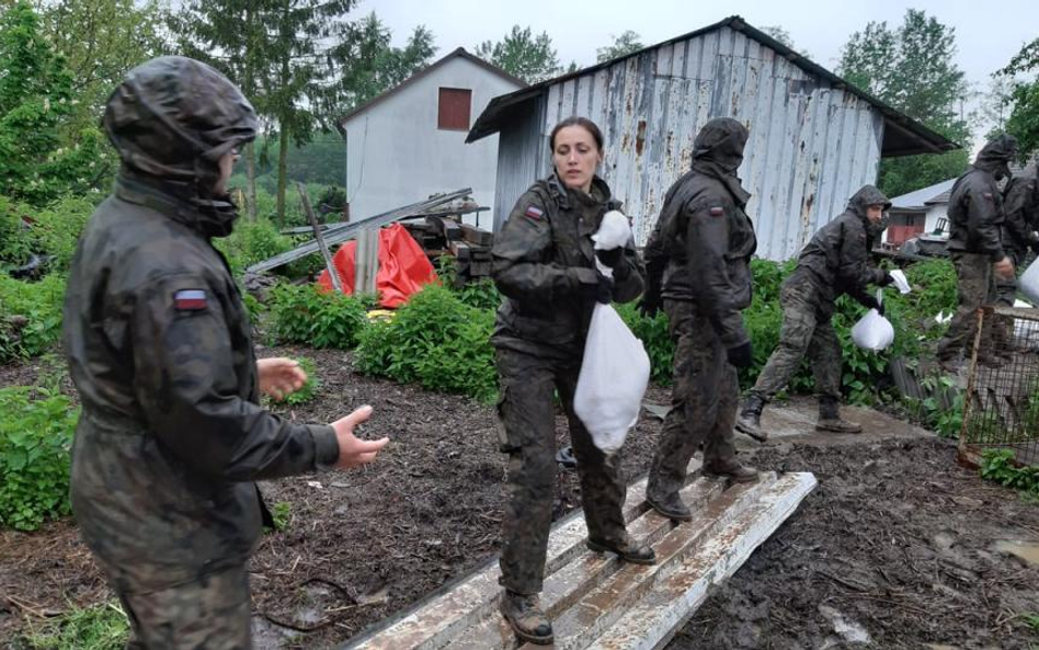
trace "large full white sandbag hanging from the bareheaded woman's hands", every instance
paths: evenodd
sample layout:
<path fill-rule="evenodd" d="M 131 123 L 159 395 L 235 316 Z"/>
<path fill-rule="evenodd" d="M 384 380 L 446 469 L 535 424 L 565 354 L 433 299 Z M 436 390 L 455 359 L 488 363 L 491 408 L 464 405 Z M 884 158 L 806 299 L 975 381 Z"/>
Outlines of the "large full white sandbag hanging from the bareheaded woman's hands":
<path fill-rule="evenodd" d="M 649 355 L 609 305 L 595 304 L 573 410 L 595 446 L 613 454 L 635 426 L 649 385 Z"/>

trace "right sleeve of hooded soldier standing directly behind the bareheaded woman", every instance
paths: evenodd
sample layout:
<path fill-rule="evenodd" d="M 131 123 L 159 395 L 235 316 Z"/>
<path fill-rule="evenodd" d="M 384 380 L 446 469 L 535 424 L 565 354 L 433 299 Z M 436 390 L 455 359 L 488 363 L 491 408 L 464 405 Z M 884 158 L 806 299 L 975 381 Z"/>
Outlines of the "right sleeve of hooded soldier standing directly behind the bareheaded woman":
<path fill-rule="evenodd" d="M 743 328 L 743 315 L 733 306 L 732 282 L 729 277 L 729 216 L 731 209 L 720 202 L 699 201 L 686 207 L 688 214 L 688 267 L 694 301 L 707 313 L 715 332 L 726 347 L 750 341 Z"/>

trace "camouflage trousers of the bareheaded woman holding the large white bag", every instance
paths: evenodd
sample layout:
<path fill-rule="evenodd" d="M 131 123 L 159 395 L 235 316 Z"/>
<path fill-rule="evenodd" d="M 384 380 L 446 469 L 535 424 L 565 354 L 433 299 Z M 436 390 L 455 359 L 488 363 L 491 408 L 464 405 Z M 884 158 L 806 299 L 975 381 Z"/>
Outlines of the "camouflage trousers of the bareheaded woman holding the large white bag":
<path fill-rule="evenodd" d="M 552 396 L 557 390 L 570 424 L 589 537 L 610 543 L 620 541 L 625 535 L 621 506 L 626 487 L 619 455 L 601 452 L 573 412 L 580 369 L 580 360 L 564 362 L 514 350 L 498 351 L 500 443 L 501 451 L 509 454 L 500 581 L 517 594 L 541 591 L 556 494 Z"/>

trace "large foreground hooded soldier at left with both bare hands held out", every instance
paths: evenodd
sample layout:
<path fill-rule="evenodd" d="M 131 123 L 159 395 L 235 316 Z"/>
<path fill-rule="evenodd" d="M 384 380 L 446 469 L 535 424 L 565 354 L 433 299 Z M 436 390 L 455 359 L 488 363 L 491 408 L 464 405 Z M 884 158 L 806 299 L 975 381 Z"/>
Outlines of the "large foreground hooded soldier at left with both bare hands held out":
<path fill-rule="evenodd" d="M 256 135 L 213 68 L 161 57 L 133 69 L 104 127 L 122 159 L 71 263 L 65 350 L 82 401 L 71 501 L 129 617 L 130 648 L 244 649 L 246 562 L 264 511 L 258 479 L 374 459 L 364 407 L 332 425 L 259 406 L 306 374 L 256 361 L 247 311 L 212 240 L 231 232 L 236 149 Z"/>

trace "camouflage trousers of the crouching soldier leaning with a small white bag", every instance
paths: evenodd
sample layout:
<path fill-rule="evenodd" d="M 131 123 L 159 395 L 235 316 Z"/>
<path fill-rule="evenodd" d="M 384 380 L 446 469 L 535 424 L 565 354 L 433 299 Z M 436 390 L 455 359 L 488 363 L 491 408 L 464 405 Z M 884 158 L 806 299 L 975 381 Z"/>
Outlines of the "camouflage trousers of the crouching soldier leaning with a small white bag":
<path fill-rule="evenodd" d="M 772 401 L 787 387 L 807 355 L 812 362 L 815 394 L 841 399 L 841 343 L 810 281 L 787 283 L 779 292 L 783 326 L 779 345 L 768 357 L 750 392 Z"/>

